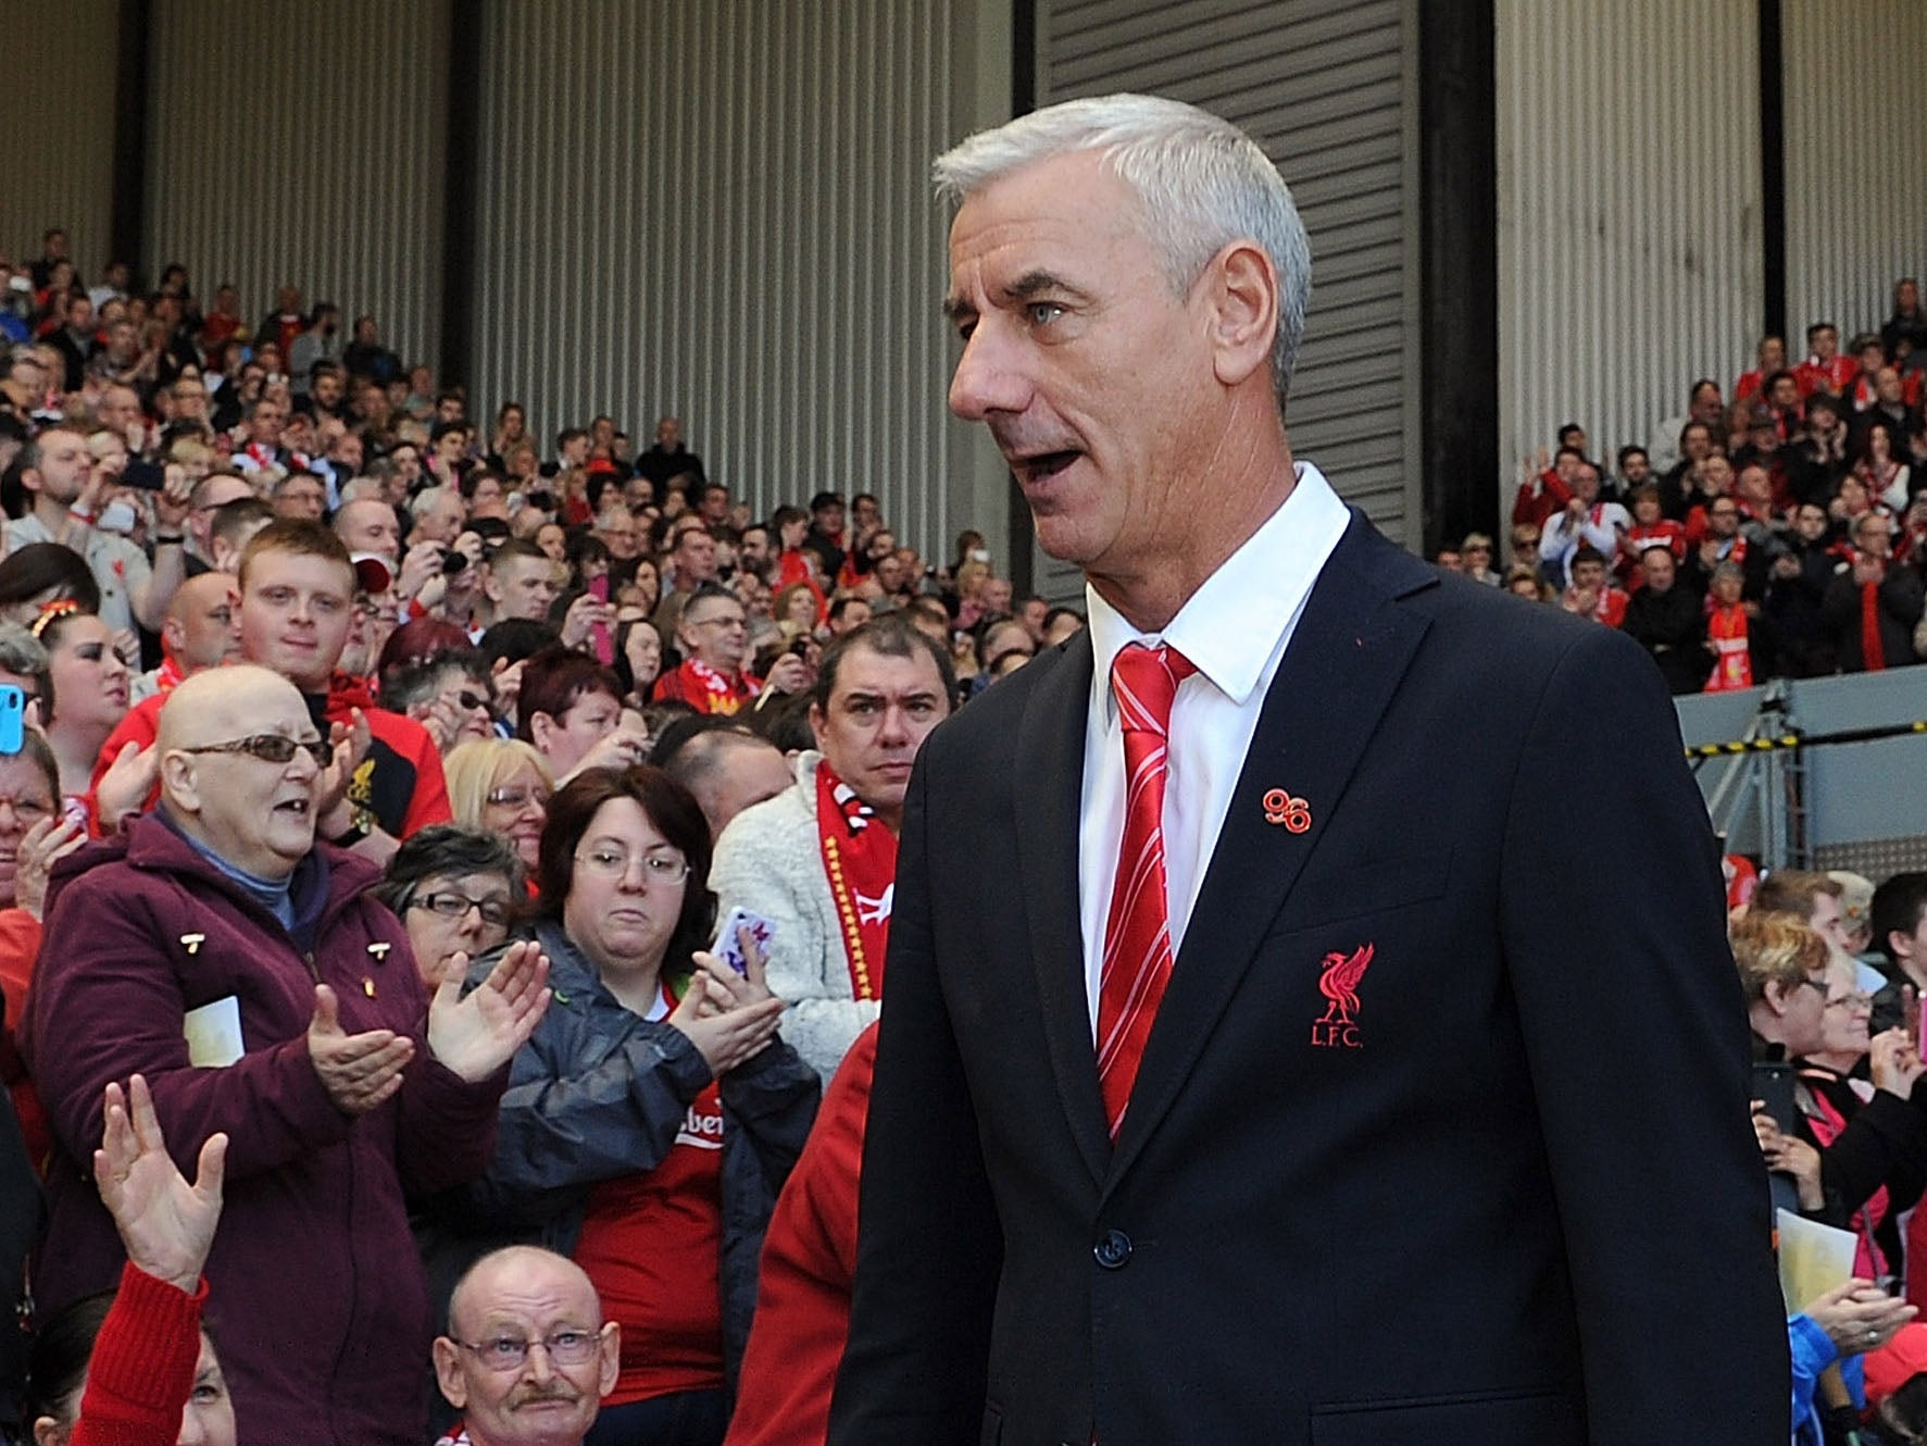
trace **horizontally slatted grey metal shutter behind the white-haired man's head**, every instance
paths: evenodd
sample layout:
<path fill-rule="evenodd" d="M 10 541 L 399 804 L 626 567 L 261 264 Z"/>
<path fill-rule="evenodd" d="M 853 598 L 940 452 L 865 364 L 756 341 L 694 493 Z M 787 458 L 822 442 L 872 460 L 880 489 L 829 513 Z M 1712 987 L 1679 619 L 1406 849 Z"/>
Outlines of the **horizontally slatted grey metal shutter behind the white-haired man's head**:
<path fill-rule="evenodd" d="M 1037 104 L 1141 91 L 1243 125 L 1312 241 L 1293 453 L 1418 540 L 1414 0 L 1041 0 Z M 1041 588 L 1077 592 L 1039 555 Z"/>

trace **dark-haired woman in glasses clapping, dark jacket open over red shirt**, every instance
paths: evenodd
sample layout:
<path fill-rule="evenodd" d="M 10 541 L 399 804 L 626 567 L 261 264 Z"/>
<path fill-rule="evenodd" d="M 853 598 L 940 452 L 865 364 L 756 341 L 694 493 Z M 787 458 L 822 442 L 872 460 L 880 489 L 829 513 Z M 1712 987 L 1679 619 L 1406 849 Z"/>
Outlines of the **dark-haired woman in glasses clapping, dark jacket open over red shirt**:
<path fill-rule="evenodd" d="M 622 1326 L 597 1446 L 723 1440 L 763 1228 L 817 1107 L 753 941 L 746 974 L 703 952 L 709 852 L 661 769 L 590 769 L 549 800 L 534 937 L 555 997 L 461 1201 L 478 1245 L 568 1255 Z"/>

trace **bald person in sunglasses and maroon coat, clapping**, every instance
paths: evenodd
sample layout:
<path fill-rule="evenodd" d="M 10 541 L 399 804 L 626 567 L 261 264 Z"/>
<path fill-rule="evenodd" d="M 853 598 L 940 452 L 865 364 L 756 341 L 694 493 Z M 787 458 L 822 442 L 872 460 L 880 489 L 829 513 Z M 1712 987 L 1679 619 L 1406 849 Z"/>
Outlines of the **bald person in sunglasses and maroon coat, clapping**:
<path fill-rule="evenodd" d="M 52 1122 L 40 1303 L 112 1286 L 91 1184 L 100 1099 L 133 1072 L 193 1159 L 225 1130 L 208 1328 L 247 1440 L 426 1438 L 434 1325 L 405 1197 L 478 1176 L 507 1064 L 547 1004 L 511 947 L 466 1001 L 430 1003 L 380 870 L 318 843 L 345 787 L 295 686 L 237 663 L 160 710 L 160 806 L 62 860 L 27 997 L 25 1053 Z"/>

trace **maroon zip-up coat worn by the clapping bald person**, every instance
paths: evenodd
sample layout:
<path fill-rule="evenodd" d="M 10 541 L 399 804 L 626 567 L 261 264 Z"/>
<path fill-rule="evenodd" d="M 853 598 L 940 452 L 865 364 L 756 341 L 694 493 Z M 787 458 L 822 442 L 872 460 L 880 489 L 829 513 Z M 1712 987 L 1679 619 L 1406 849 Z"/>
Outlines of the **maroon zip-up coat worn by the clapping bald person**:
<path fill-rule="evenodd" d="M 405 1199 L 484 1170 L 507 1070 L 466 1085 L 430 1060 L 422 983 L 401 922 L 368 895 L 376 877 L 316 846 L 297 870 L 289 931 L 156 816 L 54 875 L 25 1031 L 58 1141 L 39 1303 L 52 1311 L 119 1276 L 89 1176 L 102 1089 L 139 1070 L 183 1170 L 210 1134 L 229 1138 L 208 1334 L 243 1440 L 295 1421 L 312 1440 L 428 1438 L 434 1328 Z M 360 1118 L 333 1107 L 308 1058 L 316 981 L 333 987 L 349 1033 L 416 1039 L 401 1093 Z M 227 997 L 245 1055 L 197 1068 L 181 1018 Z"/>

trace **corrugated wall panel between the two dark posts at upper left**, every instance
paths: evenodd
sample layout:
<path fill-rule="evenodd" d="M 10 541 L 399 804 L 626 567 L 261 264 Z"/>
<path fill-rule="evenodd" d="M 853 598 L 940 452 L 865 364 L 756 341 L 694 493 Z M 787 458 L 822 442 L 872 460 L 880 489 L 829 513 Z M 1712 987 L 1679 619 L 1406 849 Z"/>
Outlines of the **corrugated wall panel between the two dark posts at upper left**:
<path fill-rule="evenodd" d="M 441 334 L 453 0 L 152 0 L 146 254 L 197 295 L 283 281 L 410 361 Z"/>

